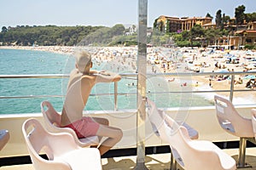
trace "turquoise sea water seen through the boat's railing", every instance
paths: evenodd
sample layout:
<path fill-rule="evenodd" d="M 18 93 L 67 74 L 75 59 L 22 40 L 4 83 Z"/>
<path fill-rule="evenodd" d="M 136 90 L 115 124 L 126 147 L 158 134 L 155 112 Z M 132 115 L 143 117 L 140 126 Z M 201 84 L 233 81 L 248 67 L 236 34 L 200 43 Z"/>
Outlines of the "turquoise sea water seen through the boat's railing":
<path fill-rule="evenodd" d="M 114 67 L 109 65 L 118 65 L 118 62 L 116 60 L 108 63 L 108 69 L 111 71 Z M 71 54 L 0 49 L 0 65 L 0 75 L 68 74 L 74 68 L 74 58 Z M 102 69 L 102 67 L 94 65 L 93 69 Z M 151 70 L 151 67 L 148 67 L 148 70 Z M 131 73 L 131 71 L 123 70 L 120 73 Z M 0 114 L 40 113 L 40 104 L 44 100 L 49 100 L 56 111 L 61 111 L 67 92 L 67 81 L 67 77 L 2 78 L 0 79 Z M 164 77 L 147 77 L 147 97 L 153 99 L 158 107 L 163 108 L 213 105 L 212 101 L 201 95 L 182 93 L 191 87 L 181 87 L 181 83 L 183 82 L 180 80 L 168 82 Z M 113 83 L 96 84 L 84 111 L 113 111 L 113 87 Z M 169 91 L 173 93 L 170 94 Z M 118 82 L 118 93 L 119 111 L 137 108 L 136 77 L 122 78 Z M 51 95 L 56 97 L 50 97 Z M 28 98 L 30 96 L 34 98 Z"/>

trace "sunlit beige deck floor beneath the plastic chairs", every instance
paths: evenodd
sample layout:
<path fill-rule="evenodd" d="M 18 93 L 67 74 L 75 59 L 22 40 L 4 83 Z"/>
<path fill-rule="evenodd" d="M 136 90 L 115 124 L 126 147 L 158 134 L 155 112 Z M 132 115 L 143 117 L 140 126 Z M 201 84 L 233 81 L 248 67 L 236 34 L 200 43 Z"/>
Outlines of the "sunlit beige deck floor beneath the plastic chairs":
<path fill-rule="evenodd" d="M 238 149 L 224 150 L 235 160 L 237 160 Z M 113 157 L 103 158 L 102 168 L 103 170 L 128 170 L 133 169 L 136 166 L 137 156 L 125 156 L 125 157 Z M 155 154 L 145 157 L 145 164 L 148 170 L 167 170 L 170 169 L 171 154 Z M 246 162 L 253 167 L 239 168 L 241 170 L 256 170 L 256 148 L 247 148 Z M 32 164 L 15 165 L 0 167 L 0 170 L 34 170 Z"/>

